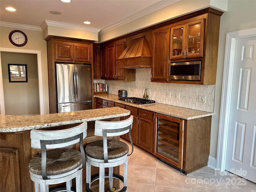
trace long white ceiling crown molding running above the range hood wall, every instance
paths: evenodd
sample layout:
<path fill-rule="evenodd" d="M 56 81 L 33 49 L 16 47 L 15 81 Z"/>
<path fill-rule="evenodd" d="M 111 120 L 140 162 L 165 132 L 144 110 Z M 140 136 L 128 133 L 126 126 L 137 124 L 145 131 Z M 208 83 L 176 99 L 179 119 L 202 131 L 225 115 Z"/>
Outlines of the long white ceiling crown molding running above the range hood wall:
<path fill-rule="evenodd" d="M 144 10 L 142 10 L 142 11 L 136 13 L 136 14 L 133 14 L 133 15 L 130 16 L 130 17 L 127 17 L 126 19 L 121 20 L 120 22 L 118 22 L 118 23 L 116 23 L 116 24 L 113 24 L 112 26 L 109 26 L 109 27 L 107 27 L 107 28 L 102 29 L 102 30 L 99 32 L 99 34 L 103 34 L 103 33 L 105 33 L 105 32 L 108 32 L 108 31 L 110 31 L 110 30 L 113 30 L 114 28 L 117 28 L 117 27 L 119 27 L 119 26 L 122 26 L 122 25 L 124 25 L 124 24 L 126 24 L 126 23 L 128 23 L 128 22 L 132 22 L 132 21 L 134 21 L 134 20 L 136 20 L 136 19 L 138 19 L 138 18 L 141 18 L 141 17 L 143 17 L 143 16 L 145 16 L 145 15 L 148 15 L 148 14 L 150 14 L 150 13 L 152 13 L 152 12 L 155 12 L 155 11 L 157 11 L 157 10 L 160 10 L 160 9 L 162 9 L 162 8 L 165 8 L 165 7 L 167 7 L 167 6 L 169 6 L 169 5 L 172 5 L 172 4 L 174 4 L 174 3 L 176 3 L 176 2 L 179 2 L 179 1 L 181 1 L 181 0 L 161 0 L 160 2 L 158 2 L 158 3 L 156 3 L 156 4 L 152 5 L 152 6 L 150 6 L 150 7 L 148 7 L 148 8 L 145 8 Z"/>

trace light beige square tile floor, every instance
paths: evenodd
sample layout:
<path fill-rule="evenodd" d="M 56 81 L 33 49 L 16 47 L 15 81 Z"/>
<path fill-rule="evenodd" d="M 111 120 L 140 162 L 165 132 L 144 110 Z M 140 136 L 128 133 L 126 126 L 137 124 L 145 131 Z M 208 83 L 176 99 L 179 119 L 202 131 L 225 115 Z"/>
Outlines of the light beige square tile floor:
<path fill-rule="evenodd" d="M 123 174 L 123 166 L 120 166 L 120 174 Z M 207 166 L 185 175 L 134 146 L 133 154 L 128 157 L 128 192 L 201 191 L 256 192 L 256 184 Z"/>

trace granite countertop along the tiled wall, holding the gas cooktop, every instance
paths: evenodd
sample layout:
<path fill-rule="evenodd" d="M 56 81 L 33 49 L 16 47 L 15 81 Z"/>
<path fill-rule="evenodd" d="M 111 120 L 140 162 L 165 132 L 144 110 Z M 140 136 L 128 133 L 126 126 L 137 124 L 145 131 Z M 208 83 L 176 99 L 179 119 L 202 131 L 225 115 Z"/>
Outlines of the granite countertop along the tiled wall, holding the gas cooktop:
<path fill-rule="evenodd" d="M 138 105 L 138 104 L 133 104 L 129 102 L 124 102 L 118 100 L 118 95 L 113 95 L 113 94 L 96 94 L 94 97 L 102 98 L 105 100 L 109 100 L 112 102 L 117 102 L 129 106 L 134 106 L 140 109 L 145 109 L 149 110 L 152 112 L 164 114 L 167 116 L 172 116 L 180 119 L 196 119 L 196 118 L 201 118 L 201 117 L 206 117 L 206 116 L 212 116 L 214 113 L 212 112 L 205 112 L 205 111 L 200 111 L 200 110 L 194 110 L 194 109 L 188 109 L 184 107 L 177 107 L 177 106 L 172 106 L 172 105 L 166 105 L 166 104 L 148 104 L 148 105 Z"/>

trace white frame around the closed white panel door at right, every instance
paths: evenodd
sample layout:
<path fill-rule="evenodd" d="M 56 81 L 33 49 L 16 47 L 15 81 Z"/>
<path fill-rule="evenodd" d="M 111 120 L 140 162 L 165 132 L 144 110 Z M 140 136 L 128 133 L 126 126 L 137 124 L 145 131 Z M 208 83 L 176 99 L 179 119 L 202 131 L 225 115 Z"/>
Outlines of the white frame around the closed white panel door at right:
<path fill-rule="evenodd" d="M 226 34 L 226 48 L 222 80 L 222 96 L 220 104 L 220 122 L 216 170 L 224 171 L 226 166 L 226 150 L 228 143 L 228 122 L 230 116 L 231 85 L 233 79 L 234 54 L 237 39 L 256 36 L 256 28 L 229 32 Z"/>

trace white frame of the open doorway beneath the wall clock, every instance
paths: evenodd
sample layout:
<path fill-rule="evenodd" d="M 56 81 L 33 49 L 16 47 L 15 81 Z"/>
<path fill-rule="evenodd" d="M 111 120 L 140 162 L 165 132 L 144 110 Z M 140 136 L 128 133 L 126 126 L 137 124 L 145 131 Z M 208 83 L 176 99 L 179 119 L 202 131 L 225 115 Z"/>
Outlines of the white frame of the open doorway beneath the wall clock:
<path fill-rule="evenodd" d="M 28 49 L 2 48 L 2 47 L 0 47 L 0 114 L 2 114 L 2 115 L 5 114 L 1 51 L 2 52 L 15 52 L 15 53 L 30 53 L 30 54 L 37 55 L 39 107 L 40 107 L 40 114 L 41 115 L 44 114 L 44 92 L 43 92 L 43 74 L 42 74 L 41 51 L 40 50 L 28 50 Z"/>

